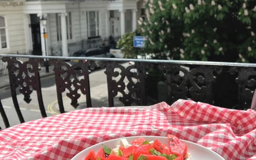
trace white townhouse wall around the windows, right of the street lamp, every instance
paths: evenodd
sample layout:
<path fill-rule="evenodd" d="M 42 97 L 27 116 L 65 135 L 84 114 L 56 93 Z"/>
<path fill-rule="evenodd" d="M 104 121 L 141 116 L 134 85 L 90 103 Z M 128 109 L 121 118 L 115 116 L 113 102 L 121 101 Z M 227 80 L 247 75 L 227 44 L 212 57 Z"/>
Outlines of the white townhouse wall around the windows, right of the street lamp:
<path fill-rule="evenodd" d="M 87 21 L 86 21 L 86 12 L 88 11 L 98 11 L 99 12 L 99 34 L 102 39 L 108 38 L 110 32 L 110 26 L 106 26 L 109 20 L 106 16 L 107 12 L 110 9 L 115 10 L 115 14 L 118 14 L 120 18 L 119 9 L 128 10 L 128 14 L 131 14 L 130 8 L 134 8 L 136 6 L 136 2 L 128 1 L 124 2 L 122 0 L 116 0 L 113 2 L 109 1 L 85 1 L 85 2 L 68 2 L 66 4 L 66 13 L 71 12 L 72 14 L 72 40 L 68 40 L 68 50 L 71 55 L 74 50 L 78 48 L 82 48 L 82 40 L 87 40 Z M 138 15 L 138 14 L 137 14 Z M 129 17 L 131 15 L 127 15 Z M 61 42 L 57 41 L 57 29 L 56 29 L 56 15 L 48 14 L 48 18 L 50 20 L 50 44 L 51 46 L 61 46 Z M 129 20 L 128 20 L 129 21 Z M 131 22 L 126 22 L 129 26 L 126 28 L 127 31 L 131 28 Z M 120 20 L 119 20 L 120 22 Z M 120 24 L 119 28 L 120 28 Z M 107 31 L 108 29 L 108 31 Z M 120 29 L 119 29 L 120 30 Z"/>

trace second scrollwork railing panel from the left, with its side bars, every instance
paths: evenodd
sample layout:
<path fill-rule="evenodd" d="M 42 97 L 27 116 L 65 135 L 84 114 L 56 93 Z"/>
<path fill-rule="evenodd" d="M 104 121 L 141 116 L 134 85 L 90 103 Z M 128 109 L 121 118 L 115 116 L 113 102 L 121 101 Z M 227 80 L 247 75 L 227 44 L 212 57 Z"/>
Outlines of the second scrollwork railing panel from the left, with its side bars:
<path fill-rule="evenodd" d="M 71 99 L 71 105 L 74 108 L 77 108 L 79 105 L 77 100 L 81 95 L 78 93 L 78 90 L 80 90 L 82 94 L 86 95 L 87 107 L 91 107 L 92 104 L 90 100 L 90 85 L 88 77 L 90 72 L 88 69 L 88 62 L 79 61 L 78 63 L 71 65 L 63 60 L 49 60 L 49 63 L 54 65 L 53 70 L 55 73 L 60 111 L 64 112 L 61 93 L 66 89 L 69 91 L 66 93 L 66 96 Z M 94 65 L 93 62 L 90 62 L 90 64 Z M 78 78 L 80 76 L 82 76 L 82 79 Z"/>

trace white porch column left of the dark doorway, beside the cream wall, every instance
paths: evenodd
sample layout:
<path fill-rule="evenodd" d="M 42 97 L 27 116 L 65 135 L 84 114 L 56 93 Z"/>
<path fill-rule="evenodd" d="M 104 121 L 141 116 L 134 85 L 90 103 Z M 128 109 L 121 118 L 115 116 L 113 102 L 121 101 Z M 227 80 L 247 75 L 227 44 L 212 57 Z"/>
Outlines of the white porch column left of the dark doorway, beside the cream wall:
<path fill-rule="evenodd" d="M 25 28 L 25 37 L 26 37 L 26 50 L 33 50 L 29 14 L 24 14 L 24 28 Z"/>

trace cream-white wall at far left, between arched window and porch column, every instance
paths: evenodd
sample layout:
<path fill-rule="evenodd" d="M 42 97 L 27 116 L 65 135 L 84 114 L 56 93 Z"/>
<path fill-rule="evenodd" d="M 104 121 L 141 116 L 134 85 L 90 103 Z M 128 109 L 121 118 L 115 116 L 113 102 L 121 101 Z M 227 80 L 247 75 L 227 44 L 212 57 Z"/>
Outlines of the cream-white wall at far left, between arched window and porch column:
<path fill-rule="evenodd" d="M 0 16 L 4 16 L 7 24 L 8 49 L 1 54 L 26 51 L 24 14 L 22 6 L 0 6 Z"/>

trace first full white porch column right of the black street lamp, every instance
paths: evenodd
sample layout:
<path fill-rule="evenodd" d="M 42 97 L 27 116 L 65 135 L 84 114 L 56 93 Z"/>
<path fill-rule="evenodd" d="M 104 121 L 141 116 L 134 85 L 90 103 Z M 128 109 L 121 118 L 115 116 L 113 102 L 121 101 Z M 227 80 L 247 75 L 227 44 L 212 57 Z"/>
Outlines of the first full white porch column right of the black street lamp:
<path fill-rule="evenodd" d="M 62 56 L 68 56 L 68 40 L 66 28 L 66 13 L 60 14 Z"/>

